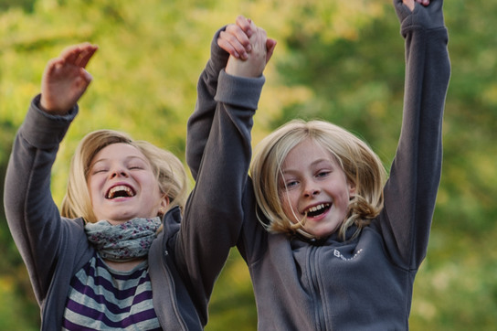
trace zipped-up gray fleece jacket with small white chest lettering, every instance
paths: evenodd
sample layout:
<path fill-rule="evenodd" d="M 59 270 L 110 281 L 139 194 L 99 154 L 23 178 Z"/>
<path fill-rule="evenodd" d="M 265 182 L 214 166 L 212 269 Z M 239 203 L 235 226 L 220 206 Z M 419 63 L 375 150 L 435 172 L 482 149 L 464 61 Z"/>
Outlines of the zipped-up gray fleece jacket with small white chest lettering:
<path fill-rule="evenodd" d="M 395 0 L 406 40 L 406 81 L 402 130 L 384 188 L 385 208 L 359 237 L 335 234 L 319 244 L 270 234 L 259 224 L 250 179 L 243 211 L 229 222 L 242 224 L 238 250 L 249 266 L 260 330 L 407 330 L 413 283 L 426 256 L 442 162 L 442 116 L 450 64 L 442 0 L 411 13 Z M 216 102 L 224 93 L 227 54 L 212 44 L 199 80 L 196 112 L 188 123 L 187 162 L 194 176 L 200 163 L 222 153 L 236 156 L 249 141 L 217 155 L 209 144 L 229 139 L 217 132 Z M 239 96 L 239 101 L 250 98 Z M 249 114 L 249 113 L 248 113 Z M 249 119 L 238 126 L 248 125 Z M 214 140 L 216 139 L 216 140 Z M 249 153 L 243 152 L 243 153 Z M 245 167 L 246 165 L 240 165 Z M 249 178 L 249 177 L 248 177 Z M 261 215 L 261 213 L 259 213 Z M 217 223 L 218 228 L 231 227 Z"/>

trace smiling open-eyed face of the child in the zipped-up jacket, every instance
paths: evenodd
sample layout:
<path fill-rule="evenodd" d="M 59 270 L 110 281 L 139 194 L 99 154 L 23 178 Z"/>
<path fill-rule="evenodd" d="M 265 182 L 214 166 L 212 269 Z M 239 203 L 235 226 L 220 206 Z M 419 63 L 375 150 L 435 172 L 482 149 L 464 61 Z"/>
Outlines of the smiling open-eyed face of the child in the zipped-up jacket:
<path fill-rule="evenodd" d="M 326 237 L 344 222 L 354 186 L 333 155 L 306 139 L 286 156 L 279 194 L 285 215 L 292 222 L 306 218 L 303 230 Z"/>

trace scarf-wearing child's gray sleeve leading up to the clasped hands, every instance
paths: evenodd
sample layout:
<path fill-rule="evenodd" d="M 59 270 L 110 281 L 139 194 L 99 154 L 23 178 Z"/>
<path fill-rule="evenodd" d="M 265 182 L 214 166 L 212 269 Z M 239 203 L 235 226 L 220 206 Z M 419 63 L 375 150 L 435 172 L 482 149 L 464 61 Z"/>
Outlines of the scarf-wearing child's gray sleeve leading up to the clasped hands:
<path fill-rule="evenodd" d="M 207 74 L 203 72 L 202 75 L 206 77 Z M 194 148 L 195 156 L 200 156 L 199 147 L 192 147 L 196 144 L 197 127 L 202 135 L 198 144 L 204 146 L 204 151 L 200 165 L 197 165 L 196 187 L 186 203 L 175 254 L 178 269 L 189 280 L 190 294 L 197 311 L 204 314 L 204 321 L 214 283 L 241 230 L 242 195 L 248 185 L 251 158 L 252 116 L 264 81 L 263 76 L 235 77 L 222 69 L 214 95 L 216 107 L 206 116 L 197 111 L 207 108 L 197 107 L 194 120 L 189 123 L 190 151 Z M 207 98 L 211 98 L 210 95 Z M 198 98 L 204 96 L 199 93 Z M 197 105 L 202 104 L 206 102 L 197 102 Z M 210 128 L 203 127 L 209 122 Z"/>

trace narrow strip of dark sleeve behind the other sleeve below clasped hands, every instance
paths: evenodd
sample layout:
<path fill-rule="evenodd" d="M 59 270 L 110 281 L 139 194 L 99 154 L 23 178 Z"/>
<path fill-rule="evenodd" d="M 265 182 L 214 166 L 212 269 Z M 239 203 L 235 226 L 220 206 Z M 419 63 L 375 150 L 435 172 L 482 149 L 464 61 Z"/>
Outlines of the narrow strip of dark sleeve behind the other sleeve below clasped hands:
<path fill-rule="evenodd" d="M 220 28 L 211 42 L 211 57 L 200 74 L 196 91 L 195 112 L 190 116 L 186 131 L 186 163 L 196 180 L 198 168 L 206 149 L 207 138 L 214 120 L 217 101 L 217 80 L 219 72 L 227 65 L 229 54 L 217 46 L 217 37 L 226 27 Z"/>

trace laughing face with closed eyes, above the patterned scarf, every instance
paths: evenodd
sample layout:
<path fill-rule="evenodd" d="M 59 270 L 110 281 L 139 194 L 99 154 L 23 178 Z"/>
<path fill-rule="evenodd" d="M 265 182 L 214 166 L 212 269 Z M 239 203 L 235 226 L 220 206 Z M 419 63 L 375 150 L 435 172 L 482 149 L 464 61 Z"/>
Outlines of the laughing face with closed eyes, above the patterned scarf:
<path fill-rule="evenodd" d="M 150 162 L 131 144 L 102 148 L 91 160 L 87 182 L 97 220 L 111 224 L 156 217 L 168 204 Z"/>

